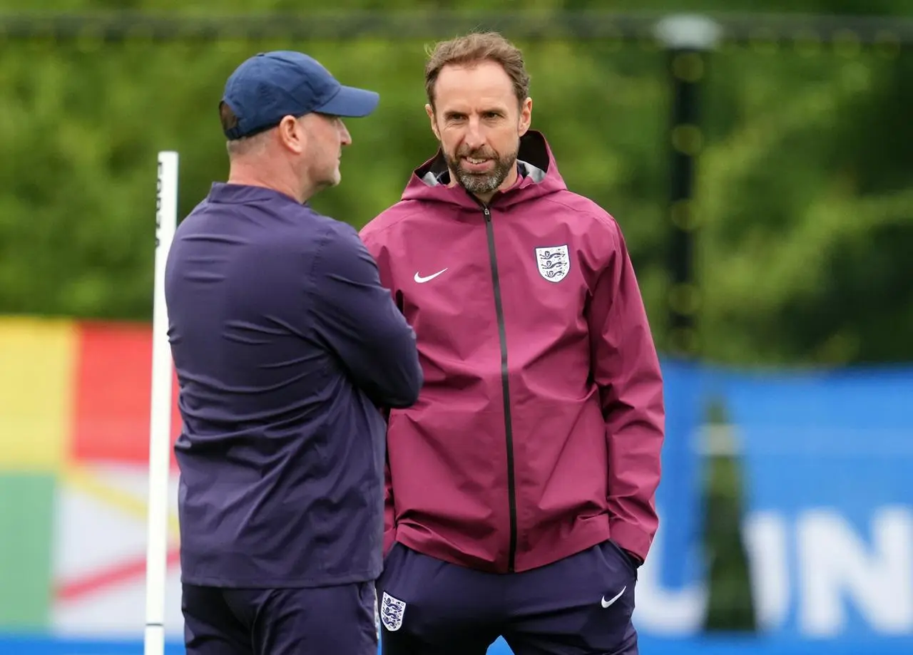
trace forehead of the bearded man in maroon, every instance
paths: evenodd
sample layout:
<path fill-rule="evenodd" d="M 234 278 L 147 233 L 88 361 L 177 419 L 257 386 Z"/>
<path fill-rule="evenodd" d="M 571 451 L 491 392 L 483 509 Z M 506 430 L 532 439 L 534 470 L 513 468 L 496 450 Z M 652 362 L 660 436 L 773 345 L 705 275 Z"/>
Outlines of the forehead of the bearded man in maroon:
<path fill-rule="evenodd" d="M 435 85 L 436 109 L 481 110 L 517 104 L 513 84 L 504 68 L 492 61 L 441 68 Z"/>

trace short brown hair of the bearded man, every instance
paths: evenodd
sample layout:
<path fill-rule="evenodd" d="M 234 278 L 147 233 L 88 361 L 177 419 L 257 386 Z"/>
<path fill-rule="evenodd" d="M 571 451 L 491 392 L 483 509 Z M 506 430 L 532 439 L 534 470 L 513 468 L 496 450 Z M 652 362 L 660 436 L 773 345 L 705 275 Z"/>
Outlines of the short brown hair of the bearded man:
<path fill-rule="evenodd" d="M 449 41 L 441 41 L 428 49 L 428 62 L 425 64 L 425 93 L 428 102 L 435 106 L 435 84 L 441 69 L 452 64 L 465 66 L 482 61 L 493 61 L 504 68 L 513 84 L 517 102 L 530 95 L 530 74 L 526 72 L 523 53 L 498 32 L 473 32 L 466 36 L 457 36 Z"/>

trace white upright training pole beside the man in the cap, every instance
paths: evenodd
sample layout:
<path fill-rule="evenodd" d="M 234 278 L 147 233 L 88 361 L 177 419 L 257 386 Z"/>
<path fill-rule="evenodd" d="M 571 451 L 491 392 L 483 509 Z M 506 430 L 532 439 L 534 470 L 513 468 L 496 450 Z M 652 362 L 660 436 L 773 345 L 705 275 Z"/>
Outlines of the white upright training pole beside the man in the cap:
<path fill-rule="evenodd" d="M 149 510 L 146 526 L 145 655 L 163 655 L 171 463 L 172 357 L 165 308 L 165 260 L 177 227 L 178 153 L 159 152 L 155 198 L 155 284 L 152 297 L 152 403 L 149 421 Z"/>

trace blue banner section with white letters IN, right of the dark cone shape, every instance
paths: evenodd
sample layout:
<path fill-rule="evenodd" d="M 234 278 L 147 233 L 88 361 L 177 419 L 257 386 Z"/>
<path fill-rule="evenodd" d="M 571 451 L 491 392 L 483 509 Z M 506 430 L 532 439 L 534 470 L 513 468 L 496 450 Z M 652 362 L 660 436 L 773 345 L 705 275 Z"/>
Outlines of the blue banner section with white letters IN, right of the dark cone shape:
<path fill-rule="evenodd" d="M 898 637 L 913 652 L 913 372 L 717 382 L 740 444 L 765 632 Z"/>

